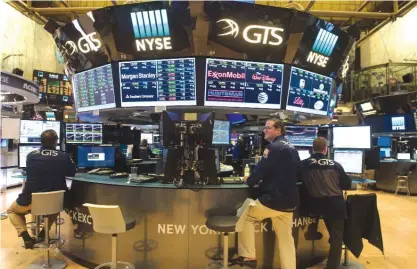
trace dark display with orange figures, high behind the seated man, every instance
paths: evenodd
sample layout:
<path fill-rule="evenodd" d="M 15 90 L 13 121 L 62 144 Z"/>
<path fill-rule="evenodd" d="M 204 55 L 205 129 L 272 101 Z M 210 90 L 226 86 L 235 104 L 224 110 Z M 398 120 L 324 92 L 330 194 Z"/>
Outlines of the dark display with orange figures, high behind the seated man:
<path fill-rule="evenodd" d="M 33 70 L 33 81 L 39 84 L 40 103 L 72 104 L 72 87 L 64 74 Z"/>

